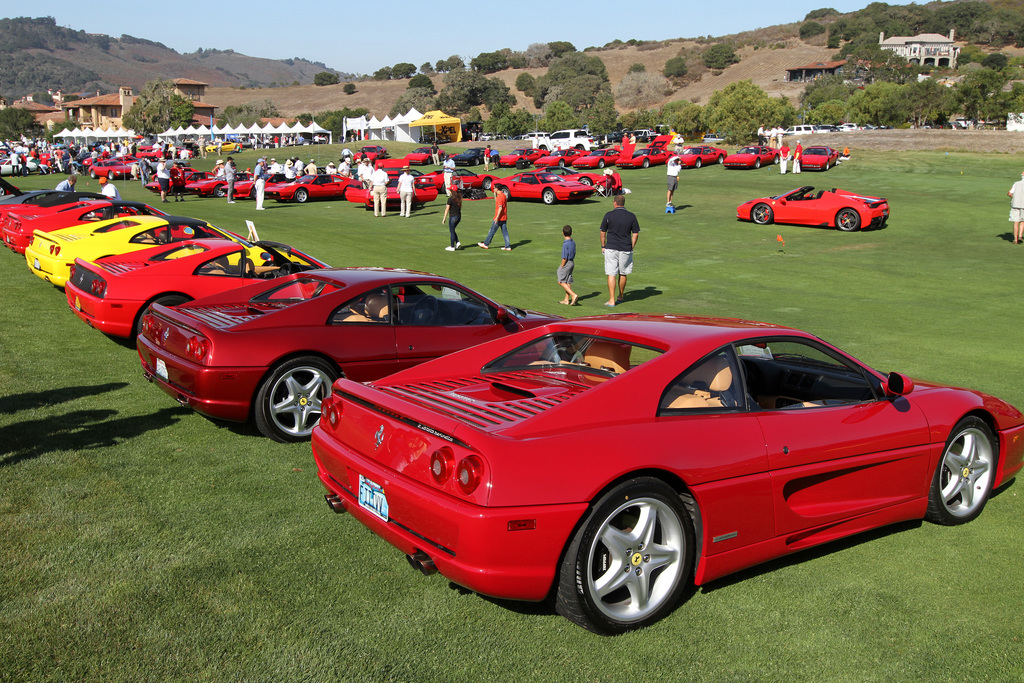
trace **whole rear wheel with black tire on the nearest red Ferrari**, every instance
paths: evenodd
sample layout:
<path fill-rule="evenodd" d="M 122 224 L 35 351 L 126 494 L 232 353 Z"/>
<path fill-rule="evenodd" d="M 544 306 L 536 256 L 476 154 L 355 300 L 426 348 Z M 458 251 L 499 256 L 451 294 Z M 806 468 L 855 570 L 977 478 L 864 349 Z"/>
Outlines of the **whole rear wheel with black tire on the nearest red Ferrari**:
<path fill-rule="evenodd" d="M 565 549 L 555 609 L 595 633 L 648 626 L 679 602 L 693 556 L 693 525 L 679 494 L 660 479 L 629 479 L 591 506 Z"/>

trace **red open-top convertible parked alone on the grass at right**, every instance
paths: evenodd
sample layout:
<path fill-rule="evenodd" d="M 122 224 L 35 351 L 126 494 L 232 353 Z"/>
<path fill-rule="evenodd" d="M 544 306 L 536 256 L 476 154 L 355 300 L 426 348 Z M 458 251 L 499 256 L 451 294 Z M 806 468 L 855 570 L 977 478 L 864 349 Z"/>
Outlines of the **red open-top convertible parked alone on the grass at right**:
<path fill-rule="evenodd" d="M 743 202 L 736 207 L 736 218 L 759 225 L 790 223 L 819 225 L 841 230 L 884 227 L 889 220 L 889 202 L 879 197 L 857 195 L 833 187 L 829 190 L 804 185 L 778 195 Z"/>

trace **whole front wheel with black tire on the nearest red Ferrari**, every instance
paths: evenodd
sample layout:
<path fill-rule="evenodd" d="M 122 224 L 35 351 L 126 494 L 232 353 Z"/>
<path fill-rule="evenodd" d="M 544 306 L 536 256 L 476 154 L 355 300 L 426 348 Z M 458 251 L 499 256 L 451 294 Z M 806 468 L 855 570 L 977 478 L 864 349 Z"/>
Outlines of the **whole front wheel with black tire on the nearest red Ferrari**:
<path fill-rule="evenodd" d="M 936 524 L 965 524 L 985 509 L 995 480 L 999 446 L 983 420 L 956 423 L 942 450 L 928 490 L 925 517 Z"/>

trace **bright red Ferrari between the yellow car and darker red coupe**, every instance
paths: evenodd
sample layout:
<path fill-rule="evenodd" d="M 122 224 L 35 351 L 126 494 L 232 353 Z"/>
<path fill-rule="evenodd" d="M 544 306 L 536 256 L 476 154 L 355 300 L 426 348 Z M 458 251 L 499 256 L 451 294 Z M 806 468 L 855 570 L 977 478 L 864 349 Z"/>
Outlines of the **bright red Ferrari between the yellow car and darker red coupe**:
<path fill-rule="evenodd" d="M 154 303 L 174 306 L 258 280 L 327 264 L 275 242 L 189 240 L 96 261 L 75 259 L 65 285 L 68 305 L 82 321 L 115 337 L 137 336 Z"/>

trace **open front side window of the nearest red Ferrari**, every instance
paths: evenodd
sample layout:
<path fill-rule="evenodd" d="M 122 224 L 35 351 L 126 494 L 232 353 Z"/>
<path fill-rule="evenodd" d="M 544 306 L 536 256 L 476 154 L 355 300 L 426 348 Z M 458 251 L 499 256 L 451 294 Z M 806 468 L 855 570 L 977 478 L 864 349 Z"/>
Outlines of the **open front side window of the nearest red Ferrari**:
<path fill-rule="evenodd" d="M 878 386 L 856 365 L 802 340 L 774 339 L 736 347 L 748 393 L 763 410 L 813 409 L 878 398 Z"/>

